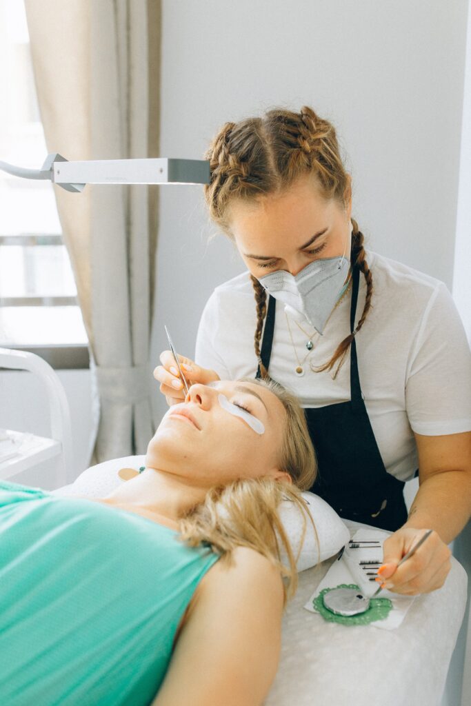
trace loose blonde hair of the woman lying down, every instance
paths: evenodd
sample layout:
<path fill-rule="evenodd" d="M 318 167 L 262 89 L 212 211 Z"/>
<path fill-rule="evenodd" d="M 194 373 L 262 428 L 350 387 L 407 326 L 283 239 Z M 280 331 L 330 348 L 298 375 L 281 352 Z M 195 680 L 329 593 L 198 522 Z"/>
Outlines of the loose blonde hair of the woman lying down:
<path fill-rule="evenodd" d="M 292 484 L 273 477 L 237 479 L 227 485 L 214 486 L 203 503 L 193 506 L 179 518 L 181 541 L 189 546 L 202 542 L 220 553 L 221 560 L 231 562 L 231 552 L 236 546 L 248 546 L 266 556 L 280 570 L 287 601 L 297 590 L 297 559 L 278 515 L 283 500 L 292 501 L 303 517 L 303 532 L 299 551 L 306 534 L 306 517 L 316 526 L 309 513 L 301 491 L 309 489 L 317 474 L 316 456 L 306 424 L 304 412 L 297 398 L 272 380 L 242 378 L 268 388 L 285 407 L 285 434 L 280 444 L 280 470 L 292 478 Z M 282 563 L 278 536 L 285 548 L 289 566 Z"/>

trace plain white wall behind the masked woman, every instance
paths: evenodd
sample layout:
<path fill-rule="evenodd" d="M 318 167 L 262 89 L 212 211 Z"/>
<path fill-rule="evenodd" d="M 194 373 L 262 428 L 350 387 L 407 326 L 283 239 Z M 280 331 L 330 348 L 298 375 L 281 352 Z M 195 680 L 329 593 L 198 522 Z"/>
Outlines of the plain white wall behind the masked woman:
<path fill-rule="evenodd" d="M 369 246 L 451 288 L 466 16 L 467 0 L 163 0 L 161 155 L 201 157 L 227 120 L 309 104 L 337 128 Z M 163 324 L 193 356 L 206 299 L 242 271 L 206 243 L 201 187 L 160 199 L 156 364 Z"/>

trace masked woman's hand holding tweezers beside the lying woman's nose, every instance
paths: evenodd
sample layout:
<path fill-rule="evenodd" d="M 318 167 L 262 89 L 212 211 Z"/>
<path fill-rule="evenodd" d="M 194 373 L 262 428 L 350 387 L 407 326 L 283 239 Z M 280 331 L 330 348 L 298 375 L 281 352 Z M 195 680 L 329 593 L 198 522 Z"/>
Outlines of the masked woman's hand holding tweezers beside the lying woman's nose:
<path fill-rule="evenodd" d="M 194 383 L 208 385 L 220 379 L 214 370 L 201 368 L 190 358 L 177 355 L 188 386 Z M 163 351 L 160 354 L 160 362 L 162 365 L 157 366 L 154 377 L 160 382 L 160 392 L 165 395 L 167 405 L 177 405 L 185 399 L 185 390 L 172 351 Z"/>

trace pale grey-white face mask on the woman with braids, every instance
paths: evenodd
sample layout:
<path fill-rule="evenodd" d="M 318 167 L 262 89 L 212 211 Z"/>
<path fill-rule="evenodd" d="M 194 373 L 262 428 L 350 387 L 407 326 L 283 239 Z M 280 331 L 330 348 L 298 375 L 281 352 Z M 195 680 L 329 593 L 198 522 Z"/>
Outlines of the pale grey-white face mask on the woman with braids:
<path fill-rule="evenodd" d="M 277 270 L 260 277 L 258 282 L 275 299 L 282 301 L 288 310 L 305 316 L 318 333 L 322 334 L 350 269 L 352 231 L 345 243 L 342 256 L 319 258 L 292 275 L 285 270 Z"/>

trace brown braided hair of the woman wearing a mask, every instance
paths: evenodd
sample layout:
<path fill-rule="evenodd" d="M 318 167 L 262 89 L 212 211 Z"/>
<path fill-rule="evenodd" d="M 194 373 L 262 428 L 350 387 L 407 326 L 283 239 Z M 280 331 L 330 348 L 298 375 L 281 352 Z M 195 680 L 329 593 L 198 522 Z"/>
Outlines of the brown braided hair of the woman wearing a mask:
<path fill-rule="evenodd" d="M 299 113 L 272 109 L 263 117 L 248 118 L 239 123 L 227 122 L 213 139 L 205 158 L 210 162 L 210 184 L 205 185 L 205 198 L 210 217 L 232 238 L 229 205 L 234 199 L 256 202 L 268 194 L 280 194 L 306 174 L 316 178 L 327 200 L 335 198 L 345 205 L 344 195 L 349 177 L 340 158 L 334 126 L 304 106 Z M 330 361 L 316 371 L 342 366 L 354 335 L 362 328 L 371 307 L 373 278 L 366 263 L 364 236 L 352 219 L 353 267 L 359 268 L 366 281 L 366 299 L 362 316 L 354 333 L 335 349 Z M 262 378 L 269 378 L 261 361 L 261 334 L 266 317 L 266 290 L 251 275 L 254 287 L 257 323 L 254 348 Z"/>

